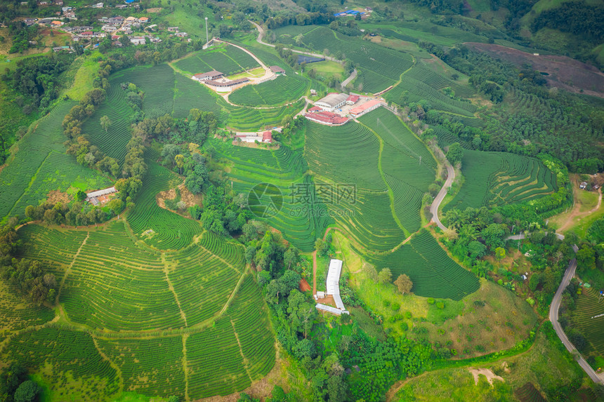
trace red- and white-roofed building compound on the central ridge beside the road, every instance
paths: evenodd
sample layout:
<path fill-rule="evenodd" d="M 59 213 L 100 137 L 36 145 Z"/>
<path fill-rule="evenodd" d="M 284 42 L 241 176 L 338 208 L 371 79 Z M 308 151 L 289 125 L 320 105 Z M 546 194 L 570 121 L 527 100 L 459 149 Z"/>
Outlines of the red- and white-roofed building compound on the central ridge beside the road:
<path fill-rule="evenodd" d="M 348 123 L 350 118 L 357 119 L 382 105 L 386 104 L 378 98 L 371 99 L 354 94 L 346 95 L 346 93 L 328 93 L 324 98 L 317 100 L 315 106 L 308 109 L 304 116 L 308 120 L 326 126 L 342 126 Z M 345 106 L 348 108 L 343 111 L 342 108 Z"/>

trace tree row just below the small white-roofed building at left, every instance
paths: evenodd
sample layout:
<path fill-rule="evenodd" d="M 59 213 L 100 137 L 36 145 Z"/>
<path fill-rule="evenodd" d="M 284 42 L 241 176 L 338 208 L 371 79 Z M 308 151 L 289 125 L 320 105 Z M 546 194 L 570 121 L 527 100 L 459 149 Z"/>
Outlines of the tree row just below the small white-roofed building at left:
<path fill-rule="evenodd" d="M 119 180 L 118 180 L 119 182 Z M 121 186 L 116 184 L 116 188 Z M 120 192 L 124 196 L 126 192 Z M 41 220 L 46 225 L 85 226 L 105 222 L 124 210 L 126 203 L 121 198 L 114 198 L 103 208 L 82 203 L 86 193 L 79 192 L 77 200 L 71 204 L 61 202 L 41 203 L 39 206 L 27 206 L 25 216 L 31 220 Z"/>

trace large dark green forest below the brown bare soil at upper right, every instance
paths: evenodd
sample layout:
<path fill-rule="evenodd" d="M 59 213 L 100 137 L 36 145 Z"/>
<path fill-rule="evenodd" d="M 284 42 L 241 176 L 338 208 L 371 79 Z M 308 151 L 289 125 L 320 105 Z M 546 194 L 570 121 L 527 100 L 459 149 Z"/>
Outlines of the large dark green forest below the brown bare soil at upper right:
<path fill-rule="evenodd" d="M 505 94 L 505 102 L 509 103 L 507 110 L 501 109 L 497 116 L 487 118 L 481 133 L 459 132 L 464 147 L 527 156 L 546 152 L 578 173 L 593 172 L 600 166 L 594 159 L 604 160 L 602 152 L 592 146 L 604 136 L 604 113 L 597 104 L 546 88 L 539 72 L 517 69 L 485 53 L 469 51 L 465 46 L 447 51 L 445 61 L 470 76 L 479 92 L 495 101 L 503 100 Z M 434 114 L 428 119 L 434 124 L 445 120 Z M 450 122 L 445 128 L 451 128 Z M 474 142 L 477 134 L 480 140 Z"/>

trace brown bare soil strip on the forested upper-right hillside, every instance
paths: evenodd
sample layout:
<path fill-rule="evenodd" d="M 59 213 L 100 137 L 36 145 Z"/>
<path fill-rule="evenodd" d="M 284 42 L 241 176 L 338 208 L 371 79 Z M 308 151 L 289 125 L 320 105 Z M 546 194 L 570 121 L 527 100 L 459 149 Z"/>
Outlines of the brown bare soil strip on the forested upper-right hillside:
<path fill-rule="evenodd" d="M 518 67 L 523 64 L 549 75 L 544 76 L 551 86 L 578 93 L 604 98 L 604 74 L 596 67 L 584 62 L 558 55 L 533 55 L 506 46 L 489 43 L 467 42 L 466 46 L 477 51 L 511 62 Z"/>

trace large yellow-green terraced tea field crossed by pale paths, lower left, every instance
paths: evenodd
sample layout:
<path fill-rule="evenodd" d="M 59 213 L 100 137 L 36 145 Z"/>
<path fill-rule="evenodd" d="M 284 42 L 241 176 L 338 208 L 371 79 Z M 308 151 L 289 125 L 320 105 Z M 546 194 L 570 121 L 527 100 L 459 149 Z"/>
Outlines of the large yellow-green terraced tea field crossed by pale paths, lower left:
<path fill-rule="evenodd" d="M 19 230 L 22 256 L 49 264 L 61 283 L 62 309 L 51 327 L 53 311 L 22 314 L 27 306 L 3 297 L 1 359 L 40 373 L 58 400 L 112 400 L 123 391 L 199 399 L 264 377 L 275 339 L 243 247 L 205 233 L 160 253 L 136 246 L 127 225 Z M 55 369 L 42 370 L 48 365 Z"/>

